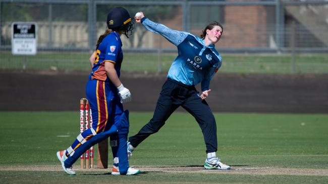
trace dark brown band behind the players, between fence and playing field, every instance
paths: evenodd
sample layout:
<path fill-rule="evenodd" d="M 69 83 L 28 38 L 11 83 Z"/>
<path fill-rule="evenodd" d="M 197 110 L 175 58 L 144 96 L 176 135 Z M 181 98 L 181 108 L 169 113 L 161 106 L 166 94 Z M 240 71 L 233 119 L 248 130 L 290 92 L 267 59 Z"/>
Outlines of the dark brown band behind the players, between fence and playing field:
<path fill-rule="evenodd" d="M 78 111 L 88 73 L 0 72 L 0 111 Z M 153 111 L 166 75 L 132 75 L 130 111 Z M 207 102 L 213 112 L 328 113 L 328 75 L 218 73 Z M 179 109 L 179 111 L 184 111 Z"/>

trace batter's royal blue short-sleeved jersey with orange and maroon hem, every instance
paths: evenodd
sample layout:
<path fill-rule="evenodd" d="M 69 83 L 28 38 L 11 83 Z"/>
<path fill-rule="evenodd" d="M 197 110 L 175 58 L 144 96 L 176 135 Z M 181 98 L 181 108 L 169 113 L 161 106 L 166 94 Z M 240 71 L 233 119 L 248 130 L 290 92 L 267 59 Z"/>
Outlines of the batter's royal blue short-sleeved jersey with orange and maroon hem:
<path fill-rule="evenodd" d="M 122 41 L 120 35 L 113 31 L 105 36 L 95 52 L 96 58 L 90 74 L 91 79 L 110 81 L 105 71 L 105 62 L 114 63 L 117 75 L 120 77 L 121 64 L 123 61 Z"/>

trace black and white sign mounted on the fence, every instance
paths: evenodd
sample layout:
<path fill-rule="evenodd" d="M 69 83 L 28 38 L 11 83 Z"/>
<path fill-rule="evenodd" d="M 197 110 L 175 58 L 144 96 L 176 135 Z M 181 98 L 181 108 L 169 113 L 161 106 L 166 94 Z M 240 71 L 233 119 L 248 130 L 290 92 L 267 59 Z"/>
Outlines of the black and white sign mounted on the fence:
<path fill-rule="evenodd" d="M 36 23 L 14 22 L 12 24 L 12 53 L 14 55 L 35 55 L 36 42 Z"/>

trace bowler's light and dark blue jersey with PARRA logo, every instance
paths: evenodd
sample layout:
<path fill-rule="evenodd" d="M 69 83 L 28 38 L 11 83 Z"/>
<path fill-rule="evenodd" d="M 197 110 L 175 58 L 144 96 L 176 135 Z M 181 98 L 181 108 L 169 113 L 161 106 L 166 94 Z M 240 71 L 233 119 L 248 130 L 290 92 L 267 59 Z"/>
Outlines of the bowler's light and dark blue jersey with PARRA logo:
<path fill-rule="evenodd" d="M 142 18 L 142 24 L 153 33 L 160 34 L 178 47 L 178 56 L 173 61 L 168 77 L 186 85 L 209 89 L 209 81 L 222 64 L 222 57 L 214 45 L 205 46 L 204 41 L 188 32 L 172 30 L 165 25 Z"/>

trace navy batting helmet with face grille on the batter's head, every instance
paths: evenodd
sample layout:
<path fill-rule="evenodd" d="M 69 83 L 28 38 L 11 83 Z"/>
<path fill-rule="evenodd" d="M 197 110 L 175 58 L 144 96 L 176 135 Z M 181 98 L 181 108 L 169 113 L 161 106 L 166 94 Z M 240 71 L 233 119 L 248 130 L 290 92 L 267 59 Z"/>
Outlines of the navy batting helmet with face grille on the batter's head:
<path fill-rule="evenodd" d="M 126 9 L 117 7 L 107 14 L 107 27 L 112 30 L 123 30 L 126 36 L 132 35 L 133 20 Z"/>

